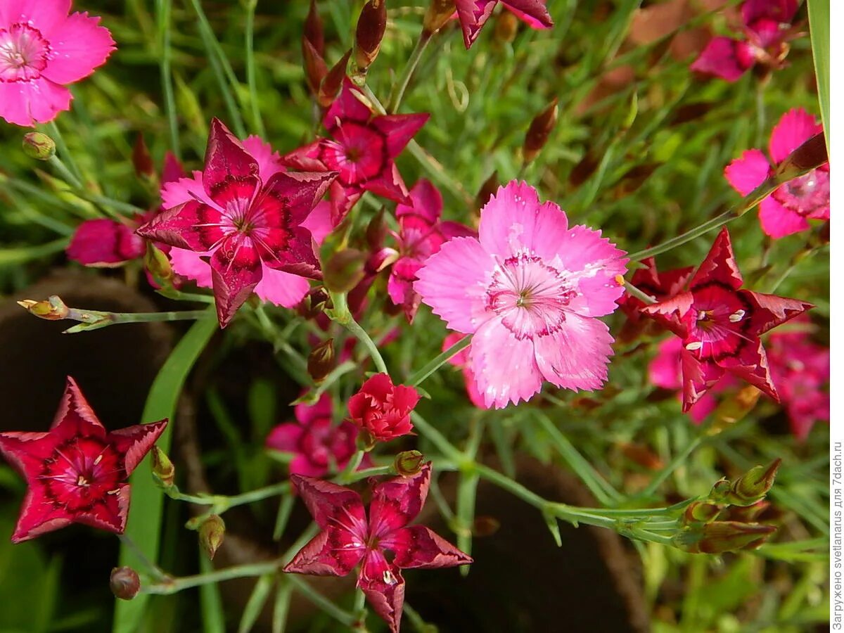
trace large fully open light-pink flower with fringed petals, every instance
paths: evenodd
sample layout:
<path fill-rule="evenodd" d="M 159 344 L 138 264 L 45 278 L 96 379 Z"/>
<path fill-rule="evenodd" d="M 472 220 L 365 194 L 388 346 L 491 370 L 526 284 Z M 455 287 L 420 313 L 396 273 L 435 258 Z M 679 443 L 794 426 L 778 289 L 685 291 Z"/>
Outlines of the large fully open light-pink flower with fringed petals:
<path fill-rule="evenodd" d="M 479 239 L 447 241 L 414 289 L 447 327 L 473 334 L 469 364 L 486 406 L 531 398 L 547 380 L 597 389 L 613 338 L 603 317 L 627 259 L 600 231 L 569 227 L 555 203 L 512 181 L 481 209 Z"/>

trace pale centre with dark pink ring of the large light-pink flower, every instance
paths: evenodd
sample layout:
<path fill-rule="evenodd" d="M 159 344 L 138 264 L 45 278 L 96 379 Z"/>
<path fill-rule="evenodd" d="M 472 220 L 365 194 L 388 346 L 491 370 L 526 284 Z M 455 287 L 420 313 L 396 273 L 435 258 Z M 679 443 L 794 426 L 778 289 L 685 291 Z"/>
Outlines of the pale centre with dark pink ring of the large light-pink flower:
<path fill-rule="evenodd" d="M 565 322 L 565 307 L 576 295 L 564 273 L 522 254 L 495 268 L 486 306 L 521 340 L 558 331 Z"/>

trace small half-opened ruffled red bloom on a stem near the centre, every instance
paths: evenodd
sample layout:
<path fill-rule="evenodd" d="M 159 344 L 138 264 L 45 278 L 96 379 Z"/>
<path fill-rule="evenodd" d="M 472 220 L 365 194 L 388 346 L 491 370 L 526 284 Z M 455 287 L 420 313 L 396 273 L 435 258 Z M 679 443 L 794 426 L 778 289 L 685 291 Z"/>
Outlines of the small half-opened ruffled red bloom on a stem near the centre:
<path fill-rule="evenodd" d="M 349 398 L 350 419 L 375 440 L 390 441 L 413 430 L 410 412 L 418 402 L 413 387 L 393 385 L 387 374 L 376 374 Z"/>

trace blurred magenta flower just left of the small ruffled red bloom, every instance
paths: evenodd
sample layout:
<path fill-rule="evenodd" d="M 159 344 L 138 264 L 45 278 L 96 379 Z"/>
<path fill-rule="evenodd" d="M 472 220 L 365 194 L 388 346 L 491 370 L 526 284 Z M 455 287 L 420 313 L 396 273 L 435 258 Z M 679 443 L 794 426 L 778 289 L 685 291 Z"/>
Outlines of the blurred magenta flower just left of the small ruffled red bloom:
<path fill-rule="evenodd" d="M 322 477 L 331 468 L 345 468 L 357 450 L 358 430 L 349 422 L 333 424 L 332 402 L 327 393 L 316 404 L 297 404 L 296 422 L 276 426 L 267 436 L 273 451 L 295 454 L 290 473 Z"/>

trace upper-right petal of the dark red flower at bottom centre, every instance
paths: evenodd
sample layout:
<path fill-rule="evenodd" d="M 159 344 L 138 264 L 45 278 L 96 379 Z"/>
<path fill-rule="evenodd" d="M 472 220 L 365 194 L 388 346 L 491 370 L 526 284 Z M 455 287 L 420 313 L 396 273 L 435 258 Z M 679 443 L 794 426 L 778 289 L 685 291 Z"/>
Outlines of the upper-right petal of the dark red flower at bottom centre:
<path fill-rule="evenodd" d="M 370 533 L 385 538 L 406 526 L 425 506 L 430 486 L 430 462 L 411 477 L 393 477 L 372 486 Z"/>

